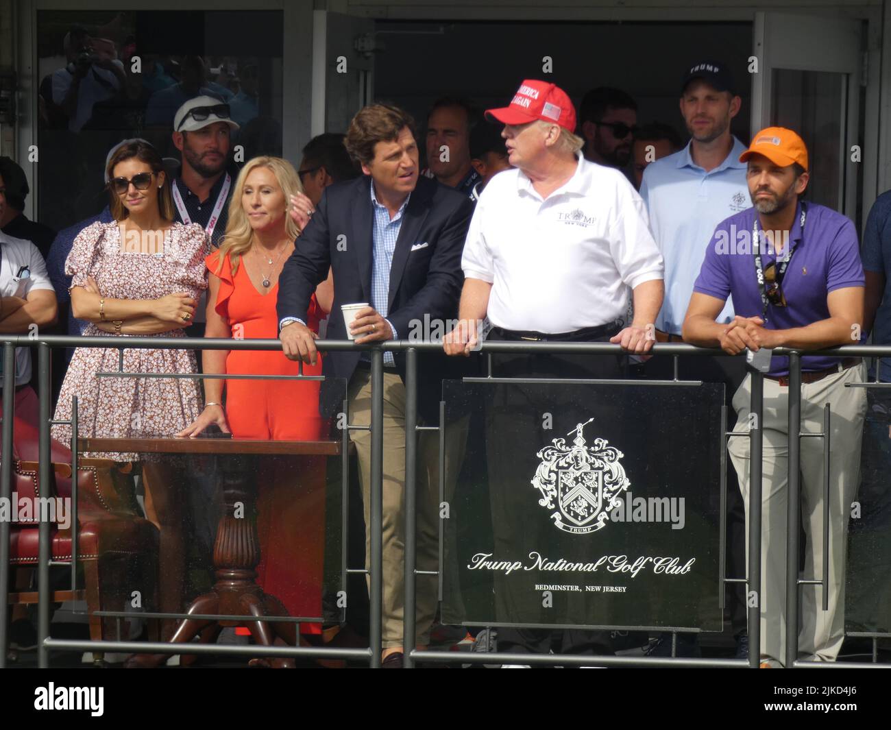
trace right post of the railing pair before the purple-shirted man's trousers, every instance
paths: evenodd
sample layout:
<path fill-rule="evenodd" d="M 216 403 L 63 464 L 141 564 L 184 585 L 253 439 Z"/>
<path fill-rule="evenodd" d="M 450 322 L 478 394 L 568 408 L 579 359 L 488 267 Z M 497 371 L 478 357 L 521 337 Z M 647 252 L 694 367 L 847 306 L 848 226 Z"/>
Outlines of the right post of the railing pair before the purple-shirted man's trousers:
<path fill-rule="evenodd" d="M 798 531 L 801 529 L 801 355 L 789 355 L 789 513 L 786 522 L 786 656 L 791 667 L 798 658 Z M 778 596 L 779 597 L 779 596 Z"/>

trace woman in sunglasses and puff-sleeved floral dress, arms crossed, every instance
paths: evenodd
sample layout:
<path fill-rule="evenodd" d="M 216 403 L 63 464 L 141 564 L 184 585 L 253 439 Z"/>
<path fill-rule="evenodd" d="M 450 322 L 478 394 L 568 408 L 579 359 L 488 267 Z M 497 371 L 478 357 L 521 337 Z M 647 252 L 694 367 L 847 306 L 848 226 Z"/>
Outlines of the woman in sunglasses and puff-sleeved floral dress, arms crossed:
<path fill-rule="evenodd" d="M 109 160 L 109 224 L 94 223 L 75 239 L 65 274 L 71 276 L 74 316 L 89 324 L 84 335 L 185 337 L 200 292 L 207 287 L 207 235 L 197 224 L 174 222 L 170 181 L 158 152 L 147 143 L 123 144 Z M 125 349 L 124 372 L 194 373 L 194 353 L 176 349 Z M 55 418 L 71 417 L 78 397 L 78 436 L 171 437 L 201 412 L 198 382 L 185 378 L 99 376 L 119 370 L 119 350 L 78 348 L 62 383 Z M 69 425 L 53 437 L 71 439 Z M 142 461 L 146 516 L 160 531 L 160 610 L 182 611 L 184 482 L 169 458 L 101 454 Z M 173 624 L 164 627 L 172 632 Z"/>

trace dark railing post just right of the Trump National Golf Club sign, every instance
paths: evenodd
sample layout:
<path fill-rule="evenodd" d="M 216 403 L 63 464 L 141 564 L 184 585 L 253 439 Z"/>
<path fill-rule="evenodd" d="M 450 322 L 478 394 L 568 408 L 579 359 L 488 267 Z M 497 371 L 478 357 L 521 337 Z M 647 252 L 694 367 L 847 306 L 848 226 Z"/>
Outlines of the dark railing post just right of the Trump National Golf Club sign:
<path fill-rule="evenodd" d="M 749 412 L 755 414 L 750 423 L 748 466 L 748 666 L 758 668 L 761 663 L 761 487 L 763 479 L 764 447 L 764 374 L 751 373 L 751 401 Z M 754 593 L 756 600 L 750 600 Z"/>

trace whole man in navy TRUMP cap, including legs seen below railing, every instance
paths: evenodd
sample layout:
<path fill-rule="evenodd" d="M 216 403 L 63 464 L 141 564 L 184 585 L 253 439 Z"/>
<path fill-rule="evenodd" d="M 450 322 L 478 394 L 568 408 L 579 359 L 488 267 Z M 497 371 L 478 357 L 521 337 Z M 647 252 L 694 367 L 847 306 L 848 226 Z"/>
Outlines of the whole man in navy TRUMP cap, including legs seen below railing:
<path fill-rule="evenodd" d="M 746 164 L 740 154 L 747 146 L 730 131 L 731 120 L 740 113 L 740 97 L 735 92 L 730 70 L 723 62 L 693 64 L 681 86 L 681 114 L 691 140 L 680 152 L 655 160 L 643 171 L 641 197 L 650 213 L 650 227 L 665 258 L 665 299 L 656 318 L 656 339 L 682 341 L 681 325 L 699 275 L 708 242 L 717 226 L 751 206 L 746 182 Z M 733 319 L 728 299 L 718 322 Z M 742 358 L 683 357 L 681 377 L 705 382 L 723 382 L 728 413 L 732 395 L 745 377 Z M 643 366 L 648 378 L 672 378 L 670 357 L 654 357 Z M 729 470 L 728 495 L 728 575 L 740 578 L 746 570 L 745 512 L 733 470 Z M 711 488 L 711 485 L 704 485 Z M 714 485 L 717 488 L 717 485 Z M 727 591 L 728 607 L 736 656 L 748 657 L 745 592 L 740 585 Z M 671 636 L 663 635 L 650 647 L 654 655 L 671 652 Z M 699 656 L 696 635 L 680 635 L 679 656 Z"/>

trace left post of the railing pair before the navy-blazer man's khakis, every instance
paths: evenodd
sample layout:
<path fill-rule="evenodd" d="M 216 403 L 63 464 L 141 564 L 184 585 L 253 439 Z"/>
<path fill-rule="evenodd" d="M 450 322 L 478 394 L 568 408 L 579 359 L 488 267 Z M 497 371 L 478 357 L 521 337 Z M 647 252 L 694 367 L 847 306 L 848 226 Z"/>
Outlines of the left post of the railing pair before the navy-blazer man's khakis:
<path fill-rule="evenodd" d="M 383 618 L 383 458 L 384 458 L 384 353 L 372 349 L 372 494 L 371 494 L 371 590 L 369 599 L 369 646 L 371 666 L 380 667 L 381 619 Z"/>

